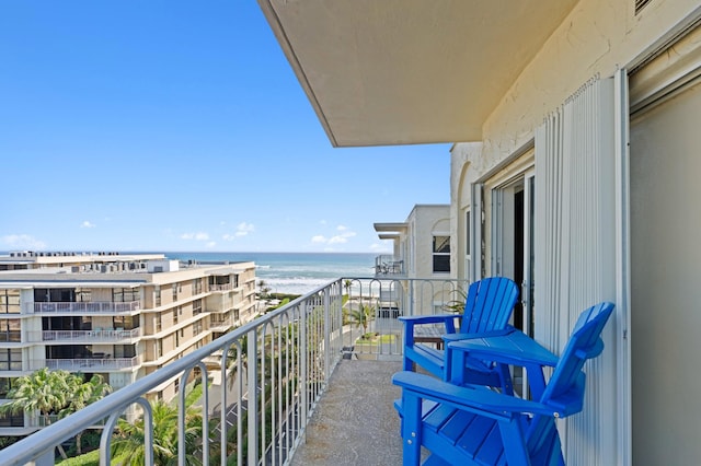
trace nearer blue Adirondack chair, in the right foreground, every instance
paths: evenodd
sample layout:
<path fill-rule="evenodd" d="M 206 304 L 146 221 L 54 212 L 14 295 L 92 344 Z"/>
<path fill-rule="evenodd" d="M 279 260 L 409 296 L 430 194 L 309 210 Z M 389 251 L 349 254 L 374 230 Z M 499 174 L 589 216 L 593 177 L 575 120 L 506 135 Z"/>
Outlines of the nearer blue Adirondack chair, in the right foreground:
<path fill-rule="evenodd" d="M 538 400 L 414 372 L 394 374 L 392 382 L 402 387 L 397 407 L 402 417 L 403 464 L 418 465 L 424 446 L 432 452 L 426 462 L 430 465 L 563 465 L 555 419 L 582 410 L 582 369 L 604 350 L 600 335 L 612 311 L 613 304 L 604 302 L 582 313 Z M 462 346 L 456 351 L 470 351 L 470 342 L 450 345 Z M 501 357 L 499 348 L 490 353 L 475 345 L 475 350 L 480 357 Z M 514 360 L 514 351 L 505 352 L 506 360 Z M 539 357 L 522 358 L 531 364 Z M 535 375 L 529 373 L 529 378 Z"/>

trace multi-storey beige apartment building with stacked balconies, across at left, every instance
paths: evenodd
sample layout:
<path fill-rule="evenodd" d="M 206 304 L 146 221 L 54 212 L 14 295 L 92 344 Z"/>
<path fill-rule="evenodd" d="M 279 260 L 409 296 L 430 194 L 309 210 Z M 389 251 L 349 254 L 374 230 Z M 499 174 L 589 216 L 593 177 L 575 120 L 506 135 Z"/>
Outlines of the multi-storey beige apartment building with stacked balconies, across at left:
<path fill-rule="evenodd" d="M 119 389 L 255 318 L 253 263 L 162 254 L 16 252 L 0 256 L 0 403 L 12 381 L 48 368 L 101 374 Z M 148 396 L 171 399 L 179 380 Z M 0 418 L 0 436 L 39 427 Z"/>

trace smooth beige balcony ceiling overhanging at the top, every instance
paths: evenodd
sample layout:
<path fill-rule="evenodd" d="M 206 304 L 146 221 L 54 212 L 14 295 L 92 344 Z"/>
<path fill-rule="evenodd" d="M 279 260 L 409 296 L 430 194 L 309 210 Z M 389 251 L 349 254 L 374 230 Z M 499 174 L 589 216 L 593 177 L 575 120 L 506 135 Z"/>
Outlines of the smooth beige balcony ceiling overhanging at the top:
<path fill-rule="evenodd" d="M 577 0 L 258 0 L 334 147 L 475 141 Z"/>

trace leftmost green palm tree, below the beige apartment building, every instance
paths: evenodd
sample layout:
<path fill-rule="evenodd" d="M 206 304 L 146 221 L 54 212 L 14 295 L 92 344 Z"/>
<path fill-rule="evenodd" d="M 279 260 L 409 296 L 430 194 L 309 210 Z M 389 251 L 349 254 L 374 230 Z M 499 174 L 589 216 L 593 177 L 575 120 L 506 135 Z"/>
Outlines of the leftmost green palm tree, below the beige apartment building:
<path fill-rule="evenodd" d="M 49 371 L 47 368 L 19 377 L 7 395 L 12 401 L 0 406 L 0 412 L 38 412 L 44 417 L 45 426 L 48 426 L 51 423 L 51 415 L 58 413 L 68 405 L 69 396 L 72 395 L 71 377 L 70 372 Z M 67 458 L 60 444 L 58 450 L 61 457 Z"/>

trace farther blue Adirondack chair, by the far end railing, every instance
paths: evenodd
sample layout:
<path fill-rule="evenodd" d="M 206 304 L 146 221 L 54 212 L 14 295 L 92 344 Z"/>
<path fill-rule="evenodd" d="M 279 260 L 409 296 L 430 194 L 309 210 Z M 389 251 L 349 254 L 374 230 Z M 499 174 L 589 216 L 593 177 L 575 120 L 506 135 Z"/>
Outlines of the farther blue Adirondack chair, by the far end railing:
<path fill-rule="evenodd" d="M 413 371 L 414 363 L 426 371 L 447 380 L 445 352 L 441 349 L 416 342 L 415 330 L 421 325 L 445 325 L 444 338 L 460 340 L 473 338 L 483 334 L 504 334 L 513 331 L 508 319 L 518 299 L 518 286 L 504 277 L 485 278 L 468 288 L 464 312 L 460 314 L 402 316 L 404 323 L 404 371 Z M 459 334 L 456 321 L 460 318 Z M 510 381 L 503 366 L 485 364 L 471 358 L 466 362 L 471 369 L 468 382 L 480 385 L 502 386 L 507 391 Z"/>

